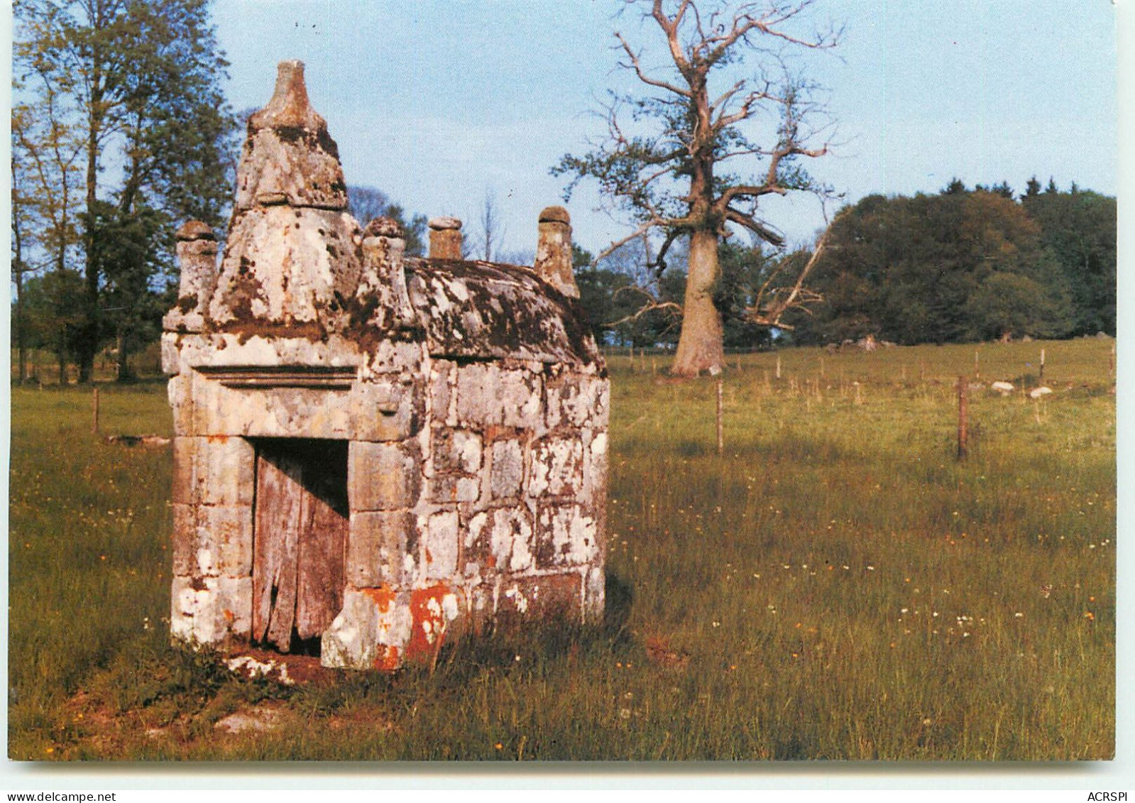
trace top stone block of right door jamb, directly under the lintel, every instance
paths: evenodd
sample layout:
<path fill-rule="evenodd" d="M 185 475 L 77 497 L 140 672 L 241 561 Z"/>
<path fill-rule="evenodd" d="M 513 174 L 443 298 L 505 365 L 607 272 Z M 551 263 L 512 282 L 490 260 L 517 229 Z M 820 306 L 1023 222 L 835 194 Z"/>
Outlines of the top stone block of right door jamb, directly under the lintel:
<path fill-rule="evenodd" d="M 418 502 L 418 449 L 405 444 L 352 441 L 347 457 L 347 497 L 352 511 L 397 510 Z"/>

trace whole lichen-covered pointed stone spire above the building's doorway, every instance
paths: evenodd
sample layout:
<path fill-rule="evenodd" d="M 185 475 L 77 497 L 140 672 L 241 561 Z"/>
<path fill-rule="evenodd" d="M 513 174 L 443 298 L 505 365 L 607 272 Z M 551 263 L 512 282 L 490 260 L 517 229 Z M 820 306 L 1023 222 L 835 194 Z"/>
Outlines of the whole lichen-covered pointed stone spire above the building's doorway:
<path fill-rule="evenodd" d="M 362 268 L 362 232 L 303 64 L 281 61 L 276 92 L 249 118 L 217 291 L 216 331 L 322 337 L 339 324 Z"/>

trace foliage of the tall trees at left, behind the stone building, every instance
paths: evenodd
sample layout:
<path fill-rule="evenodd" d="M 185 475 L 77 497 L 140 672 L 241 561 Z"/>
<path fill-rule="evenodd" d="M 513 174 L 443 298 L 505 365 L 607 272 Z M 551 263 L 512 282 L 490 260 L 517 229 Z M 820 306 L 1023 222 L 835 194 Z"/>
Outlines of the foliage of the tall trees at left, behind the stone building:
<path fill-rule="evenodd" d="M 43 192 L 36 241 L 53 270 L 83 275 L 79 379 L 108 340 L 125 375 L 132 333 L 154 323 L 137 288 L 175 273 L 152 235 L 187 218 L 219 228 L 230 196 L 234 124 L 209 2 L 17 0 L 14 11 L 14 154 Z M 134 300 L 109 315 L 124 293 Z"/>

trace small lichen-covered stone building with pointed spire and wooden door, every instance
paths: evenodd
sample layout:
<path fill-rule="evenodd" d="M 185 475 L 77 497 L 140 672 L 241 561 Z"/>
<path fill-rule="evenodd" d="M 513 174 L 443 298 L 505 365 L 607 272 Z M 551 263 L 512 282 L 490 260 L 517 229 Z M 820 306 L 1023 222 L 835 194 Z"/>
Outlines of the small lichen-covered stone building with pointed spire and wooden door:
<path fill-rule="evenodd" d="M 519 267 L 463 259 L 452 218 L 407 258 L 346 209 L 285 61 L 219 265 L 208 226 L 177 233 L 173 635 L 390 669 L 463 630 L 595 620 L 608 384 L 566 211 Z"/>

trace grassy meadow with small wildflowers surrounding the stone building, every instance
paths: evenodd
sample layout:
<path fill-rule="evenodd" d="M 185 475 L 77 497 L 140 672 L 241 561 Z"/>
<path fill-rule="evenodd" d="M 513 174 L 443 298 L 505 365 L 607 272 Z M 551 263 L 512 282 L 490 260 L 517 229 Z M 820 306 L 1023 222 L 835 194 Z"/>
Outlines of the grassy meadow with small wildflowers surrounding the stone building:
<path fill-rule="evenodd" d="M 1111 344 L 731 358 L 723 457 L 713 380 L 612 356 L 608 621 L 292 687 L 168 645 L 168 449 L 15 388 L 9 756 L 1109 758 Z M 958 375 L 1032 387 L 1041 348 L 1056 392 L 972 393 L 957 461 Z M 101 425 L 170 434 L 165 385 Z"/>

